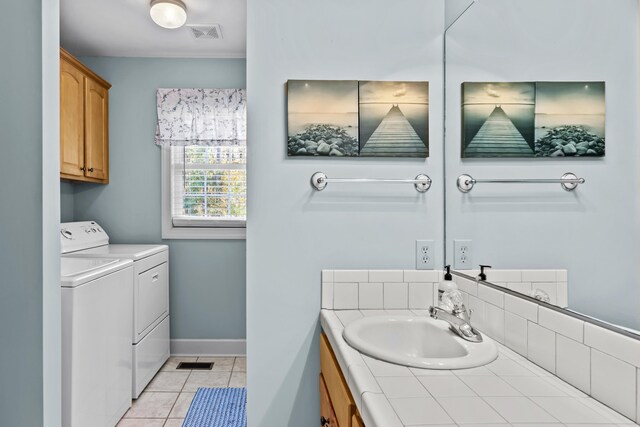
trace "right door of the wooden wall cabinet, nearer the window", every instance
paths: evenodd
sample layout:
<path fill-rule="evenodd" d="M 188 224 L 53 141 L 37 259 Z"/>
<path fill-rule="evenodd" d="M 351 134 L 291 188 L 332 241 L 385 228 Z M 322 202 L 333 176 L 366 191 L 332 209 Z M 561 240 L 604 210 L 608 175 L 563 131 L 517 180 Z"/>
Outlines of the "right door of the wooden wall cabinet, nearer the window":
<path fill-rule="evenodd" d="M 85 176 L 109 179 L 109 91 L 90 78 L 85 92 Z"/>

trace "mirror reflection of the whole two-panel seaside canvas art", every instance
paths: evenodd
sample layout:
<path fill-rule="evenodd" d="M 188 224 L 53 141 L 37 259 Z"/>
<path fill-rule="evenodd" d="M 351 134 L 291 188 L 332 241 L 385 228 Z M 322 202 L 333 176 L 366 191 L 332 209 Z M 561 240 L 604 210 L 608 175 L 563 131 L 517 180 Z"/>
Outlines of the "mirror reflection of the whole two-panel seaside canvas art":
<path fill-rule="evenodd" d="M 603 156 L 604 82 L 462 85 L 464 158 Z"/>

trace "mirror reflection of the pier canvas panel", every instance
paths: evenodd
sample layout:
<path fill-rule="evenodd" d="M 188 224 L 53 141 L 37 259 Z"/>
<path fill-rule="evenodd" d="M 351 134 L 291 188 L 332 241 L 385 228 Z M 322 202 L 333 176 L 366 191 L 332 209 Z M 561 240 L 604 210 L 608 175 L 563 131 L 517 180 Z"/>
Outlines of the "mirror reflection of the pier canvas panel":
<path fill-rule="evenodd" d="M 535 83 L 462 84 L 462 157 L 535 156 Z"/>

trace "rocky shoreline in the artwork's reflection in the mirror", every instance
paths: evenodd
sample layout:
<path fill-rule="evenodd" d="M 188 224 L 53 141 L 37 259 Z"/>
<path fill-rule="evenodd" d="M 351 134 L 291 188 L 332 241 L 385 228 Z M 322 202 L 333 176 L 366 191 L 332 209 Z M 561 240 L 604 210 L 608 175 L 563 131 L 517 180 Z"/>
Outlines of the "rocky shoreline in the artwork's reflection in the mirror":
<path fill-rule="evenodd" d="M 559 126 L 535 143 L 536 157 L 604 156 L 604 138 L 581 126 Z"/>

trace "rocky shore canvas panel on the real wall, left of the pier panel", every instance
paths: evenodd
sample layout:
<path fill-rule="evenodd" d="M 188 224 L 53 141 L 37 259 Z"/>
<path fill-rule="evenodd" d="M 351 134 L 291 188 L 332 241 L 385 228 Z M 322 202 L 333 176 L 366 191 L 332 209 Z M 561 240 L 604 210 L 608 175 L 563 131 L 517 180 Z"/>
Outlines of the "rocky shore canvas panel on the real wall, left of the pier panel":
<path fill-rule="evenodd" d="M 289 156 L 357 156 L 358 82 L 289 80 Z"/>

